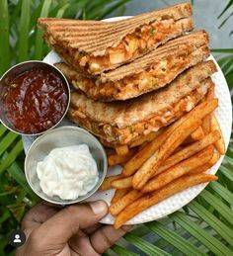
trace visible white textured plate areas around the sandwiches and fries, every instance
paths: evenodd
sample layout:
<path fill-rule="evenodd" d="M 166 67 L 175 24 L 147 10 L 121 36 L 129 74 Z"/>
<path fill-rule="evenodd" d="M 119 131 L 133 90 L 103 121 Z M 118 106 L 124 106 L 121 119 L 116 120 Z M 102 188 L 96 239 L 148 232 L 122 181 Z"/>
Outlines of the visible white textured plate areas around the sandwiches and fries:
<path fill-rule="evenodd" d="M 108 21 L 116 21 L 119 19 L 125 19 L 126 17 L 116 17 L 108 19 Z M 213 82 L 215 83 L 215 96 L 219 100 L 219 107 L 215 111 L 216 118 L 220 124 L 222 129 L 223 137 L 226 146 L 229 143 L 230 135 L 231 135 L 231 125 L 232 125 L 232 109 L 231 109 L 231 98 L 229 89 L 225 80 L 225 77 L 218 66 L 217 62 L 211 55 L 209 59 L 212 59 L 218 71 L 211 76 Z M 53 64 L 55 62 L 60 61 L 59 56 L 54 52 L 50 51 L 45 58 L 43 59 L 44 62 Z M 64 125 L 73 125 L 69 120 L 64 119 L 59 126 Z M 36 136 L 23 136 L 24 148 L 27 153 L 30 145 L 36 139 Z M 219 159 L 219 161 L 208 171 L 208 173 L 215 174 L 223 160 L 223 156 Z M 121 170 L 120 166 L 115 166 L 109 169 L 109 175 L 118 174 Z M 203 183 L 192 188 L 189 188 L 181 193 L 176 194 L 175 196 L 164 200 L 163 202 L 153 206 L 146 211 L 137 214 L 129 221 L 128 224 L 136 224 L 136 223 L 143 223 L 151 220 L 155 220 L 161 217 L 164 217 L 170 213 L 174 213 L 177 210 L 183 208 L 187 204 L 189 204 L 207 185 L 207 183 Z M 94 196 L 92 196 L 88 201 L 95 201 L 95 200 L 104 200 L 109 205 L 111 202 L 112 197 L 114 196 L 114 190 L 110 190 L 107 192 L 97 192 Z M 113 224 L 115 218 L 109 213 L 106 215 L 101 222 Z"/>

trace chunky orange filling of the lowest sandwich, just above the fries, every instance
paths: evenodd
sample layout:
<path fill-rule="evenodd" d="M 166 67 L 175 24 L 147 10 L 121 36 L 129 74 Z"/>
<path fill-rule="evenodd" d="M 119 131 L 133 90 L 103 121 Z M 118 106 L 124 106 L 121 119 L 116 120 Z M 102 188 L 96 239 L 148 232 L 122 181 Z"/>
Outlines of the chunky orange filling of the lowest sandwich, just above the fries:
<path fill-rule="evenodd" d="M 195 89 L 192 93 L 180 100 L 174 106 L 170 106 L 166 110 L 163 110 L 163 113 L 160 115 L 157 114 L 155 117 L 130 127 L 118 128 L 116 126 L 112 126 L 111 124 L 99 124 L 90 121 L 88 117 L 83 114 L 82 108 L 69 111 L 69 116 L 74 122 L 77 122 L 79 126 L 91 130 L 98 136 L 103 137 L 108 142 L 127 144 L 142 134 L 147 134 L 151 131 L 156 131 L 161 127 L 168 126 L 185 113 L 190 112 L 205 94 L 205 92 L 202 91 L 201 93 L 196 93 L 196 90 L 202 89 Z"/>

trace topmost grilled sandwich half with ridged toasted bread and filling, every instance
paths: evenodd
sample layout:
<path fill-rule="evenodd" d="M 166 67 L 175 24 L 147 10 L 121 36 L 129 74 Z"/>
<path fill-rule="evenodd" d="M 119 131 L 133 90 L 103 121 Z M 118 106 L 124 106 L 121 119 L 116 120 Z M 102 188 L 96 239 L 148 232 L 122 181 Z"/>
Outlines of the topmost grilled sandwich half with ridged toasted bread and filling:
<path fill-rule="evenodd" d="M 194 29 L 192 6 L 183 3 L 117 22 L 39 18 L 45 42 L 64 62 L 100 74 Z"/>

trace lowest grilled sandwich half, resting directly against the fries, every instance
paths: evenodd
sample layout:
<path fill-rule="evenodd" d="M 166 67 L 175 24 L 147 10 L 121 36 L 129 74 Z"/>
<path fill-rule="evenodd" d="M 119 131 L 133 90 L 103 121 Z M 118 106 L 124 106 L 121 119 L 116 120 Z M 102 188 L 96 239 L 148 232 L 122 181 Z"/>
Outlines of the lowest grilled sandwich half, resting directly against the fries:
<path fill-rule="evenodd" d="M 213 61 L 198 63 L 156 92 L 125 102 L 103 103 L 73 92 L 68 117 L 113 146 L 129 144 L 190 112 L 212 85 Z"/>

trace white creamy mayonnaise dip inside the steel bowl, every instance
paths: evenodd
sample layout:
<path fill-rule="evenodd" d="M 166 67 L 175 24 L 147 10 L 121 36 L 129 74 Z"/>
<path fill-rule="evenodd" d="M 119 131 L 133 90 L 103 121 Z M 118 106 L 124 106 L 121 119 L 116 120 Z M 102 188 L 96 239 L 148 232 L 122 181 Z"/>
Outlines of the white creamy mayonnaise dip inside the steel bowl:
<path fill-rule="evenodd" d="M 58 147 L 38 163 L 39 186 L 49 197 L 75 200 L 98 182 L 97 164 L 86 144 Z"/>

